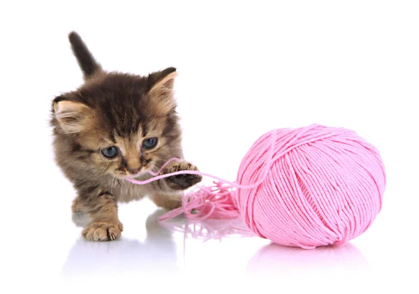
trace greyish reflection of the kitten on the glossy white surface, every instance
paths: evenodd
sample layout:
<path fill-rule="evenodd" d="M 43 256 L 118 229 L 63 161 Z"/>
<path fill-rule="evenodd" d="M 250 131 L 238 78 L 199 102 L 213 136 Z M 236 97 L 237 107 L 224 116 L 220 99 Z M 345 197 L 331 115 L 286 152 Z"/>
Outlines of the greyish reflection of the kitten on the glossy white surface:
<path fill-rule="evenodd" d="M 177 256 L 172 233 L 159 224 L 164 210 L 156 210 L 146 221 L 147 239 L 145 242 L 128 240 L 122 237 L 112 242 L 87 242 L 78 240 L 70 252 L 61 277 L 86 278 L 107 277 L 127 274 L 176 274 Z M 87 219 L 73 216 L 78 226 Z"/>

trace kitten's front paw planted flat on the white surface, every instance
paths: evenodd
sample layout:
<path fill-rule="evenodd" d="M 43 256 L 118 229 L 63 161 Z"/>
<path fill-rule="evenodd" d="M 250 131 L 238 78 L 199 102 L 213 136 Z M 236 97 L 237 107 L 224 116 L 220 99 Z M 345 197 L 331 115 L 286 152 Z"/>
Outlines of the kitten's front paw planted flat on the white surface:
<path fill-rule="evenodd" d="M 88 241 L 112 241 L 121 236 L 124 230 L 120 221 L 92 221 L 82 232 Z"/>

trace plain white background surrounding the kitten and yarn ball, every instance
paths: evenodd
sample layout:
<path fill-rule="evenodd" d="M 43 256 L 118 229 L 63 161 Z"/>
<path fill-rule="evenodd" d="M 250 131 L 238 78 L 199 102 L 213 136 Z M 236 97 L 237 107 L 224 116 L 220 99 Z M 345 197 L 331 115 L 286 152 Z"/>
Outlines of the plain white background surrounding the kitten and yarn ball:
<path fill-rule="evenodd" d="M 1 1 L 4 293 L 418 293 L 418 15 L 417 1 Z M 72 30 L 107 70 L 177 67 L 184 153 L 200 170 L 233 180 L 272 128 L 343 126 L 383 156 L 383 210 L 339 249 L 203 243 L 161 228 L 148 200 L 120 207 L 122 240 L 80 240 L 47 124 L 52 99 L 82 84 Z"/>

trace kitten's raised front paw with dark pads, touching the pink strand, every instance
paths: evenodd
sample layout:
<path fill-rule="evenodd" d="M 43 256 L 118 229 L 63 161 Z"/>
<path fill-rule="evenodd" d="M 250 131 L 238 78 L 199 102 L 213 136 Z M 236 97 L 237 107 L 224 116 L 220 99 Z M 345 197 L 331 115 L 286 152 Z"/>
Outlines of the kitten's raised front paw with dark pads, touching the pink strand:
<path fill-rule="evenodd" d="M 198 170 L 198 168 L 187 161 L 175 162 L 169 165 L 164 173 L 168 174 L 181 170 Z M 201 175 L 173 175 L 172 177 L 166 177 L 166 183 L 168 183 L 170 189 L 186 190 L 191 186 L 198 184 L 202 179 L 203 177 Z"/>

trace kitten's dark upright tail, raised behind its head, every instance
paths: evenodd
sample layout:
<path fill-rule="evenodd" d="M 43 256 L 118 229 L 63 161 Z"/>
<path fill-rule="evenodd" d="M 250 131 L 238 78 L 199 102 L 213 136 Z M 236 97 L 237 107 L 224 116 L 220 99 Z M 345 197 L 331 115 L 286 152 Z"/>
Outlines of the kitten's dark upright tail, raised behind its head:
<path fill-rule="evenodd" d="M 101 71 L 101 65 L 96 62 L 93 55 L 87 49 L 87 46 L 80 38 L 79 34 L 75 31 L 72 31 L 68 34 L 68 40 L 71 43 L 71 49 L 73 50 L 73 54 L 78 61 L 80 68 L 84 74 L 84 80 L 87 80 L 91 75 L 94 73 Z"/>

